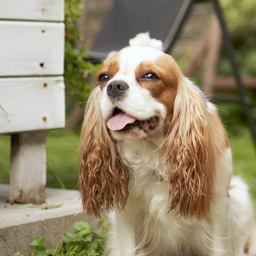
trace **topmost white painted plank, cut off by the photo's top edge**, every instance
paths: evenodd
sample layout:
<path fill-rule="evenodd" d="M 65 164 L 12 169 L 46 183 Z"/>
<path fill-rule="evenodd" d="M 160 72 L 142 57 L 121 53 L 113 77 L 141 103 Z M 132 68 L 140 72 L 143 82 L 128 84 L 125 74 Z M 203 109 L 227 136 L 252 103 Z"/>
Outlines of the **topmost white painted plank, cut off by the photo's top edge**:
<path fill-rule="evenodd" d="M 64 21 L 64 0 L 1 0 L 0 19 Z"/>

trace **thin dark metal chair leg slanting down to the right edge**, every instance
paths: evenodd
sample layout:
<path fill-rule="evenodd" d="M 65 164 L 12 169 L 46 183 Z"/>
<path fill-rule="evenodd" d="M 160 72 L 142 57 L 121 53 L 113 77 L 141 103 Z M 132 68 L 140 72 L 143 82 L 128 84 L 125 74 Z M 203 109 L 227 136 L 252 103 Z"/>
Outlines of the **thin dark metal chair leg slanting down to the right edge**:
<path fill-rule="evenodd" d="M 246 113 L 248 123 L 249 123 L 250 128 L 251 128 L 251 133 L 252 133 L 252 137 L 253 137 L 253 140 L 254 140 L 254 146 L 256 148 L 256 126 L 255 126 L 255 123 L 254 123 L 254 120 L 253 120 L 253 115 L 252 115 L 252 111 L 251 111 L 251 107 L 250 107 L 251 99 L 247 96 L 245 87 L 242 83 L 242 79 L 241 79 L 241 76 L 240 76 L 240 73 L 239 73 L 239 70 L 238 70 L 238 67 L 237 67 L 235 57 L 234 57 L 231 39 L 229 37 L 228 30 L 226 28 L 226 24 L 225 24 L 225 21 L 224 21 L 224 18 L 223 18 L 222 9 L 219 5 L 218 0 L 212 0 L 212 1 L 214 3 L 214 7 L 215 7 L 217 17 L 219 18 L 220 26 L 221 26 L 222 33 L 223 33 L 224 42 L 226 44 L 226 48 L 227 48 L 227 51 L 228 51 L 228 57 L 229 57 L 229 60 L 231 62 L 234 77 L 235 77 L 235 80 L 237 82 L 237 88 L 238 88 L 238 91 L 239 91 L 239 94 L 240 94 L 240 97 L 241 97 L 241 101 L 242 101 L 244 109 L 245 109 L 245 113 Z"/>

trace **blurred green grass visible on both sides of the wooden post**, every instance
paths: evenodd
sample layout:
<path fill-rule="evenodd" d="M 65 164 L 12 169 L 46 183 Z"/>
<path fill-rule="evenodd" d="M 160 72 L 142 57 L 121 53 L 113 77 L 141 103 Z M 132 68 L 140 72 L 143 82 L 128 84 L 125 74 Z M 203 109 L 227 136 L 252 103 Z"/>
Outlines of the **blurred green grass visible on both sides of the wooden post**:
<path fill-rule="evenodd" d="M 47 187 L 60 187 L 50 174 L 52 170 L 66 188 L 77 187 L 78 163 L 77 153 L 79 135 L 76 132 L 66 132 L 64 129 L 47 131 Z M 9 182 L 10 168 L 10 136 L 0 136 L 0 182 Z M 48 179 L 48 180 L 49 180 Z"/>

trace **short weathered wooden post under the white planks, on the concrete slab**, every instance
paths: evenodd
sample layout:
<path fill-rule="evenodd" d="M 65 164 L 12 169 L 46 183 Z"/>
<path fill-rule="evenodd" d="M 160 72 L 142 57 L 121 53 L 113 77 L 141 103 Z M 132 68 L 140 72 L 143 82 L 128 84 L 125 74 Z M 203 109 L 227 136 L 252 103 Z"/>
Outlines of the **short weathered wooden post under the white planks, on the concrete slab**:
<path fill-rule="evenodd" d="M 11 135 L 10 202 L 44 202 L 45 184 L 45 131 Z"/>

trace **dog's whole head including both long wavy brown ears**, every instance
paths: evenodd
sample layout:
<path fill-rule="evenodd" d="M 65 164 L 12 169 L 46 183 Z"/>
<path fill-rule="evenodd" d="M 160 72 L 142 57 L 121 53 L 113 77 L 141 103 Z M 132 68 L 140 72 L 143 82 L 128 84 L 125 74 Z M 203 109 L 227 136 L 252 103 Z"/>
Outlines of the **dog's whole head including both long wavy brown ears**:
<path fill-rule="evenodd" d="M 129 47 L 104 63 L 83 123 L 79 186 L 84 210 L 122 210 L 129 171 L 116 142 L 161 137 L 170 209 L 203 218 L 214 185 L 214 160 L 202 92 L 173 58 L 149 47 Z"/>

